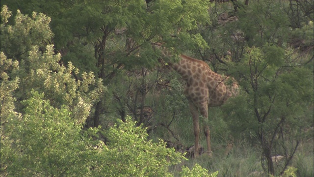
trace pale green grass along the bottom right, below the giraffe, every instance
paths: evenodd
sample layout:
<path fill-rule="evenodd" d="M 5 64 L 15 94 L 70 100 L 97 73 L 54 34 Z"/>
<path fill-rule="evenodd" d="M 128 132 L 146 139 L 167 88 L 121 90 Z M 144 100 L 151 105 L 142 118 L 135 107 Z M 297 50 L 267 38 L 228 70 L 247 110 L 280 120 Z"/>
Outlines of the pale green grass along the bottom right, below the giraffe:
<path fill-rule="evenodd" d="M 313 141 L 302 142 L 289 166 L 297 168 L 297 177 L 314 176 Z M 174 176 L 178 176 L 182 166 L 192 168 L 196 163 L 209 170 L 209 173 L 218 171 L 218 177 L 267 177 L 261 165 L 261 153 L 255 147 L 245 142 L 238 143 L 227 157 L 223 150 L 213 153 L 212 157 L 203 154 L 197 158 L 189 158 L 173 167 Z M 279 170 L 277 170 L 279 173 Z"/>

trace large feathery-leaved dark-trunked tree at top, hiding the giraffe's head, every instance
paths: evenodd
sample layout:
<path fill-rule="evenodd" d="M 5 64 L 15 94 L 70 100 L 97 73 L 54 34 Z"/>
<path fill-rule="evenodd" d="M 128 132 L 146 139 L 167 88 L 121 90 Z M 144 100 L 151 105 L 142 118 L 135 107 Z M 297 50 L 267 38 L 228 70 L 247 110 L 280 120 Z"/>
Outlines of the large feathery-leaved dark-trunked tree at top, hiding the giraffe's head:
<path fill-rule="evenodd" d="M 162 42 L 179 51 L 207 47 L 198 33 L 188 32 L 209 22 L 209 2 L 204 0 L 154 0 L 149 4 L 143 0 L 1 3 L 18 4 L 25 13 L 31 13 L 29 9 L 33 8 L 52 16 L 53 40 L 62 60 L 72 61 L 83 71 L 97 72 L 105 86 L 118 72 L 157 65 L 151 43 Z M 100 124 L 104 112 L 111 111 L 106 109 L 113 94 L 108 94 L 95 104 L 93 126 Z"/>

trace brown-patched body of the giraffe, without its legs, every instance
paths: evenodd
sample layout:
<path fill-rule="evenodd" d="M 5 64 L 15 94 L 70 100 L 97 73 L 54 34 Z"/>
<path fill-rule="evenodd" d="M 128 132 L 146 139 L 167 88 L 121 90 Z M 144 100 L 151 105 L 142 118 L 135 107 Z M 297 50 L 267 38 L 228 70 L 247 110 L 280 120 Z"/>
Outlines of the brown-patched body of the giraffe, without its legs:
<path fill-rule="evenodd" d="M 205 107 L 219 106 L 232 96 L 232 85 L 224 84 L 228 78 L 213 72 L 204 61 L 184 55 L 181 58 L 172 68 L 183 76 L 187 84 L 184 94 L 201 112 L 207 114 Z"/>

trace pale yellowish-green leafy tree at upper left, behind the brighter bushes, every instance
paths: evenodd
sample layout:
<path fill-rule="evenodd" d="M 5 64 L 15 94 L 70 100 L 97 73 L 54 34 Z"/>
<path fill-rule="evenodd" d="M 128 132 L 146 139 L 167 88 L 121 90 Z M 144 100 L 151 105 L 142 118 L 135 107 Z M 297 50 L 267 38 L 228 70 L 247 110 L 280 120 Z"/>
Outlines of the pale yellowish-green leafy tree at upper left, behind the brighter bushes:
<path fill-rule="evenodd" d="M 33 13 L 30 18 L 18 11 L 13 25 L 9 25 L 10 14 L 4 6 L 1 10 L 1 65 L 11 60 L 16 65 L 14 72 L 6 72 L 10 78 L 19 80 L 19 89 L 13 96 L 22 101 L 29 98 L 32 89 L 45 92 L 45 99 L 53 106 L 67 106 L 72 117 L 83 123 L 92 104 L 105 90 L 101 80 L 96 80 L 92 72 L 79 76 L 78 69 L 71 63 L 68 67 L 59 64 L 61 55 L 54 54 L 53 45 L 45 46 L 52 37 L 49 17 Z M 23 106 L 17 102 L 16 108 L 20 112 Z"/>

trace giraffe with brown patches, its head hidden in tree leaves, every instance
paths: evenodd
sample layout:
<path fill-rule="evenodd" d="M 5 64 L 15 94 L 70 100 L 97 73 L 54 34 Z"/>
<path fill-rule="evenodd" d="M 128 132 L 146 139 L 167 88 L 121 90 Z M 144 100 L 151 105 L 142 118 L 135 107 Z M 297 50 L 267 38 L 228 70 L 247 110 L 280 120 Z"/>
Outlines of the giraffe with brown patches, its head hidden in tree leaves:
<path fill-rule="evenodd" d="M 186 82 L 184 95 L 188 100 L 189 110 L 193 118 L 194 128 L 194 155 L 198 156 L 200 125 L 199 111 L 201 115 L 208 119 L 208 108 L 224 104 L 228 98 L 237 94 L 238 85 L 226 85 L 226 81 L 232 79 L 223 77 L 213 72 L 209 65 L 201 60 L 193 59 L 185 55 L 180 55 L 177 63 L 168 63 L 177 71 Z M 211 156 L 210 131 L 206 123 L 203 130 L 207 141 L 207 152 Z"/>

